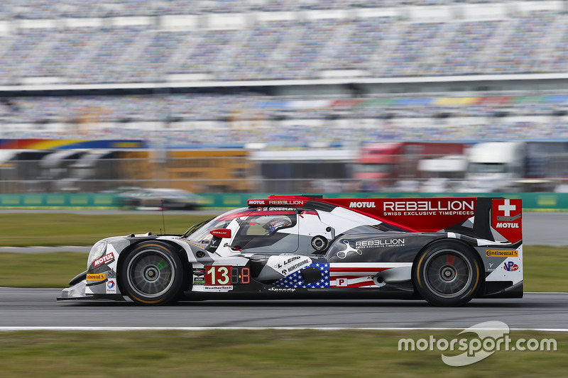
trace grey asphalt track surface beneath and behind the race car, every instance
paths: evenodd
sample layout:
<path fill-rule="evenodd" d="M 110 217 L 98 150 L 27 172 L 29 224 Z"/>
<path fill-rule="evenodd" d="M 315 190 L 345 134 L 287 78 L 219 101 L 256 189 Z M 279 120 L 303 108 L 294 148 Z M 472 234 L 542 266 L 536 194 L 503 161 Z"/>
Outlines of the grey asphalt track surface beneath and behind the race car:
<path fill-rule="evenodd" d="M 523 214 L 525 245 L 568 245 L 568 213 Z M 67 248 L 66 248 L 67 249 Z M 49 248 L 39 248 L 50 252 Z M 62 250 L 62 248 L 55 248 Z M 88 248 L 74 249 L 86 252 Z M 0 248 L 0 252 L 37 252 Z M 56 289 L 0 288 L 0 330 L 123 328 L 468 328 L 503 321 L 510 328 L 568 331 L 568 293 L 525 293 L 523 299 L 474 299 L 458 308 L 425 301 L 180 301 L 143 307 L 131 302 L 55 301 Z"/>

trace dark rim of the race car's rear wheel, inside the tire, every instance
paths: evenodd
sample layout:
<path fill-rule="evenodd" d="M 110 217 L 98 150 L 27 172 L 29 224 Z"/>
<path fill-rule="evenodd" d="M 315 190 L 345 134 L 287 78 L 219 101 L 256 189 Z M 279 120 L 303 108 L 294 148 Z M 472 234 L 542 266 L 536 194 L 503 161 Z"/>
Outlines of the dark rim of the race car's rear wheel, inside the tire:
<path fill-rule="evenodd" d="M 439 250 L 425 262 L 424 281 L 428 289 L 443 298 L 456 298 L 468 290 L 474 268 L 457 250 Z"/>

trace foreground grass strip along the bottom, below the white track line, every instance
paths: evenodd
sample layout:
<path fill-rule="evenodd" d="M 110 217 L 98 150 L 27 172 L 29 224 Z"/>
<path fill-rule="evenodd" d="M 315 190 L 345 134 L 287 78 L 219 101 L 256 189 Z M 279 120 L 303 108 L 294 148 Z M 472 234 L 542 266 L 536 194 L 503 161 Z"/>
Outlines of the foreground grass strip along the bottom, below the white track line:
<path fill-rule="evenodd" d="M 565 377 L 568 334 L 511 330 L 555 339 L 556 351 L 499 350 L 450 367 L 456 350 L 399 351 L 400 338 L 468 338 L 459 330 L 159 330 L 0 333 L 2 377 Z M 504 349 L 504 348 L 503 348 Z M 492 351 L 489 349 L 488 351 Z M 158 374 L 158 375 L 157 375 Z"/>

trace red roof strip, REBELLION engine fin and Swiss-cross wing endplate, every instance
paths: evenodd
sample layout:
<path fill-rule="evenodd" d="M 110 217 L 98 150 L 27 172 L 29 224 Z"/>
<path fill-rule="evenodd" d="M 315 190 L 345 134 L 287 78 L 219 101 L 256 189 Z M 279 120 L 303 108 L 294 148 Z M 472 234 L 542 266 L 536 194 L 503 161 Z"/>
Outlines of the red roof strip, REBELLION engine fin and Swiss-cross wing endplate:
<path fill-rule="evenodd" d="M 502 197 L 322 199 L 320 196 L 268 196 L 249 206 L 304 207 L 329 204 L 417 232 L 456 232 L 475 238 L 517 243 L 523 240 L 520 199 Z"/>

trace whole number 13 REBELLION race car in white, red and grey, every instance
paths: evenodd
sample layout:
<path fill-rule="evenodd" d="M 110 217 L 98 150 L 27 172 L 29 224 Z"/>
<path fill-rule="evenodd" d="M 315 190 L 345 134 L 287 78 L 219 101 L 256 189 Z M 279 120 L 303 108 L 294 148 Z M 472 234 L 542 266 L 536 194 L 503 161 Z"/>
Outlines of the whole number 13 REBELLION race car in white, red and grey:
<path fill-rule="evenodd" d="M 520 199 L 250 199 L 182 235 L 100 240 L 58 299 L 522 297 L 521 220 Z"/>

